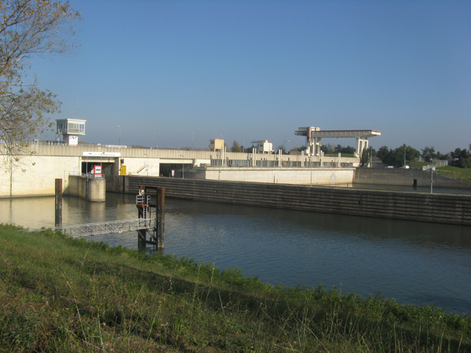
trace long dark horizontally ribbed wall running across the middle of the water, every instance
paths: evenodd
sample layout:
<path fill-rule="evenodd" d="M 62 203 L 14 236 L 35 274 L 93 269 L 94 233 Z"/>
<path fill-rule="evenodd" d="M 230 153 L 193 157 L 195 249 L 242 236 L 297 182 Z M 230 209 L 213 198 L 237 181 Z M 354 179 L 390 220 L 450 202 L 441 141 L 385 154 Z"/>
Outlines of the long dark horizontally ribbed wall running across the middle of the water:
<path fill-rule="evenodd" d="M 137 194 L 139 185 L 166 188 L 166 196 L 195 201 L 328 212 L 388 219 L 471 225 L 471 195 L 426 194 L 301 185 L 119 177 L 114 192 Z"/>

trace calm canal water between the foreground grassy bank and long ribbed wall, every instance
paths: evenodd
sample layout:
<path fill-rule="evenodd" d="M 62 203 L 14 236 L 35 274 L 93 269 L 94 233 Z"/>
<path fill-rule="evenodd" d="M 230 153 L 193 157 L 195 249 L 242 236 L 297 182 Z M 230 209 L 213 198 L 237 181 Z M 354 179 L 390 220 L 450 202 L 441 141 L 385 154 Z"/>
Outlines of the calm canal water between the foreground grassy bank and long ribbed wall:
<path fill-rule="evenodd" d="M 137 216 L 135 196 L 63 198 L 63 224 Z M 0 199 L 0 223 L 54 225 L 54 197 Z M 137 233 L 90 237 L 137 248 Z M 278 285 L 335 285 L 399 303 L 434 303 L 471 314 L 471 228 L 166 199 L 165 254 L 237 266 Z"/>

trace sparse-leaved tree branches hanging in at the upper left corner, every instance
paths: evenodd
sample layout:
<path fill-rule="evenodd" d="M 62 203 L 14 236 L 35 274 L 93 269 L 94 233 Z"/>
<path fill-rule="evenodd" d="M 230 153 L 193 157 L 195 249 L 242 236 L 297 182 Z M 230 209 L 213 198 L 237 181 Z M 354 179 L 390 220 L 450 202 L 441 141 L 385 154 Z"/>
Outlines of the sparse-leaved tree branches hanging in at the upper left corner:
<path fill-rule="evenodd" d="M 80 12 L 61 1 L 0 1 L 0 138 L 10 168 L 28 139 L 48 127 L 45 114 L 59 111 L 55 94 L 40 90 L 31 57 L 66 54 L 77 46 Z"/>

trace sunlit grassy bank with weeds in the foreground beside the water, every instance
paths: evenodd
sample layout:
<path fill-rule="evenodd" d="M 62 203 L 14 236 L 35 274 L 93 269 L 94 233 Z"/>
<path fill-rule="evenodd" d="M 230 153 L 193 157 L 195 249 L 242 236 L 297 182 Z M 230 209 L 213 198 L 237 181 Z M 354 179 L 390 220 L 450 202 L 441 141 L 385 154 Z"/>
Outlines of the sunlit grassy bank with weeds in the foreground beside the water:
<path fill-rule="evenodd" d="M 471 352 L 471 318 L 0 225 L 0 352 Z"/>

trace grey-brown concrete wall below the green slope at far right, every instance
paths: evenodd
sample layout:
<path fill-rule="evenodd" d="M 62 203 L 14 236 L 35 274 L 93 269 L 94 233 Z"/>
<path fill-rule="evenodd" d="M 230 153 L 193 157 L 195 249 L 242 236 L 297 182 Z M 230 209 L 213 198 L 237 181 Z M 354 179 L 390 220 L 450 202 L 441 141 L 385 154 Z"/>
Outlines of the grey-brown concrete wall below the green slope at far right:
<path fill-rule="evenodd" d="M 353 182 L 372 185 L 401 185 L 430 187 L 432 175 L 430 172 L 417 169 L 389 168 L 357 168 Z M 433 174 L 434 188 L 471 188 L 470 183 Z"/>

